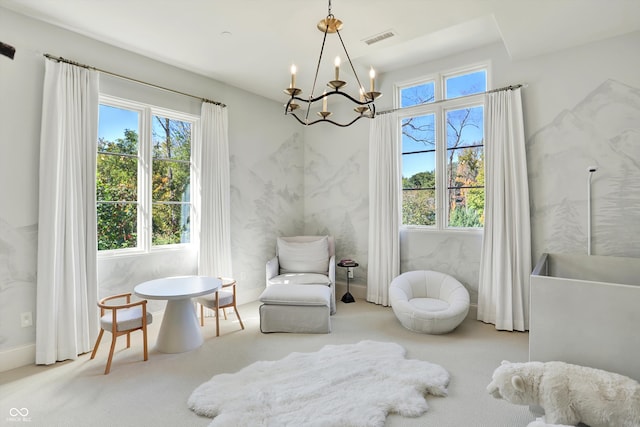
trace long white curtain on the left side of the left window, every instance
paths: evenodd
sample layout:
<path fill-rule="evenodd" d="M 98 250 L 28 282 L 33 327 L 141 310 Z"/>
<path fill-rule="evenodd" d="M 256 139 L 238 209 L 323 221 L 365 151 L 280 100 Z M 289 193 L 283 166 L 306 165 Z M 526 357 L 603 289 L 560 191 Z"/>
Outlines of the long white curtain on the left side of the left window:
<path fill-rule="evenodd" d="M 76 359 L 99 330 L 98 74 L 45 60 L 36 284 L 36 363 Z"/>

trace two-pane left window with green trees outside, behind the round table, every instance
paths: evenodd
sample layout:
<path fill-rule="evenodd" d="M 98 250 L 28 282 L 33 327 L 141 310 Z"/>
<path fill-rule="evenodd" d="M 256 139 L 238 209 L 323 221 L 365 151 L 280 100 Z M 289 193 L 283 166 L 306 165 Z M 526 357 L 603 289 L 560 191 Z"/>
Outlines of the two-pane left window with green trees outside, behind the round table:
<path fill-rule="evenodd" d="M 191 241 L 191 138 L 197 118 L 102 97 L 96 170 L 98 250 Z"/>

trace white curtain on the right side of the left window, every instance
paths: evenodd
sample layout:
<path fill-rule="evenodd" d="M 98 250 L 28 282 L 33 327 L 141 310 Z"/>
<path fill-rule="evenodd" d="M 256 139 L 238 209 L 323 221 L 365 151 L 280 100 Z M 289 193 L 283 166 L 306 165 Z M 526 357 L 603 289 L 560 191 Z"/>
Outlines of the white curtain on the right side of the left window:
<path fill-rule="evenodd" d="M 227 109 L 202 103 L 201 138 L 194 150 L 200 195 L 198 274 L 232 277 Z"/>

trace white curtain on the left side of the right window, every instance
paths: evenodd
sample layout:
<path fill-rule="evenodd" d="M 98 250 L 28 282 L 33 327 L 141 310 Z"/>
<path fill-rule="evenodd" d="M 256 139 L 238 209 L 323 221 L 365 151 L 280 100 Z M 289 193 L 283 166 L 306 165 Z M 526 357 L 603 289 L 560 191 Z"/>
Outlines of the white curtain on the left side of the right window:
<path fill-rule="evenodd" d="M 389 284 L 400 273 L 400 150 L 397 116 L 376 116 L 369 127 L 369 256 L 367 301 L 388 306 Z"/>

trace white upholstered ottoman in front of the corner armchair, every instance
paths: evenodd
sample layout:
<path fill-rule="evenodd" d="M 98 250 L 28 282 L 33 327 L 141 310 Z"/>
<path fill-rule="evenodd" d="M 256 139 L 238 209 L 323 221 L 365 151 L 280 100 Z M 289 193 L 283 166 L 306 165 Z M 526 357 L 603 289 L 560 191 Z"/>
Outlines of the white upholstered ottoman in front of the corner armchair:
<path fill-rule="evenodd" d="M 331 332 L 331 288 L 326 285 L 271 285 L 260 295 L 260 331 Z"/>

